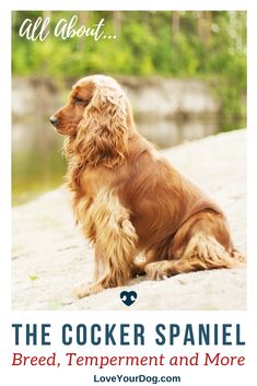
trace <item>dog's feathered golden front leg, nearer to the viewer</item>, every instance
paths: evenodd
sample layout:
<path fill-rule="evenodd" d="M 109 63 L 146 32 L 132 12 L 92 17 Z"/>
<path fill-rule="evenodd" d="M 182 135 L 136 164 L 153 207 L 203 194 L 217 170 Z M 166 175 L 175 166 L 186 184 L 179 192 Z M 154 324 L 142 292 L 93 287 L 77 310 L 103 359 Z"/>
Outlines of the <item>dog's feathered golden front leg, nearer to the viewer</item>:
<path fill-rule="evenodd" d="M 91 208 L 95 237 L 95 282 L 82 286 L 77 295 L 89 296 L 103 289 L 124 285 L 132 277 L 137 234 L 129 212 L 118 197 L 102 192 Z"/>

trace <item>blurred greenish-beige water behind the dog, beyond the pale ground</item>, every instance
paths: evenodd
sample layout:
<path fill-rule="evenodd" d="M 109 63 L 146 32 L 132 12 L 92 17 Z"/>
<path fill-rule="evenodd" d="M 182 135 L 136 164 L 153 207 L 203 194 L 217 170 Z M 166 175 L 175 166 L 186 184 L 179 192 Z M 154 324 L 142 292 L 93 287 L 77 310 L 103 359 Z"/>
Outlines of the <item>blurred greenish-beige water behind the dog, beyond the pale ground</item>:
<path fill-rule="evenodd" d="M 234 122 L 222 127 L 215 119 L 144 121 L 138 126 L 139 131 L 161 149 L 232 128 L 236 128 Z M 13 124 L 12 202 L 14 206 L 30 201 L 63 183 L 67 165 L 61 153 L 62 142 L 63 137 L 56 133 L 47 118 L 42 122 Z"/>

